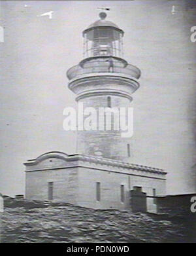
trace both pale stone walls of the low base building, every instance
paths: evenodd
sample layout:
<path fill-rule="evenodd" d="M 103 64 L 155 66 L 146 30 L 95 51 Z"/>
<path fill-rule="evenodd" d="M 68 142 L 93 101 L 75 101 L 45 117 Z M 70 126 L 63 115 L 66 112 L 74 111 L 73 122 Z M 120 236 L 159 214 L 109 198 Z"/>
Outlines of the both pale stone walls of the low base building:
<path fill-rule="evenodd" d="M 54 201 L 94 209 L 131 209 L 130 191 L 135 186 L 142 187 L 147 196 L 154 196 L 153 189 L 156 196 L 165 195 L 164 174 L 112 166 L 114 160 L 106 164 L 96 159 L 97 162 L 88 162 L 49 157 L 28 165 L 25 198 L 49 200 L 48 183 L 53 183 Z M 97 200 L 96 183 L 100 183 L 101 200 Z M 153 198 L 147 198 L 147 210 L 154 210 Z"/>

